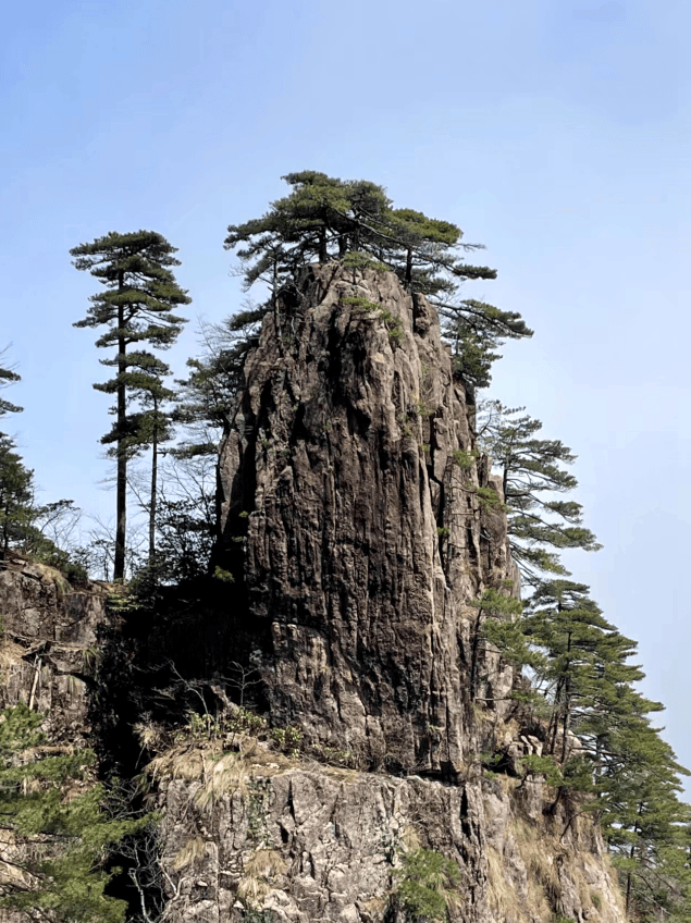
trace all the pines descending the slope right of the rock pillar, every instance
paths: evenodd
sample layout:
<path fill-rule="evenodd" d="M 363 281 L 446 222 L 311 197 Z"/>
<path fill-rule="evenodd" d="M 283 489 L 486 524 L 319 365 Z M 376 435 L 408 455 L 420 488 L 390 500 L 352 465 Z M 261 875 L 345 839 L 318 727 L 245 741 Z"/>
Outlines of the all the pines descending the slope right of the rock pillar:
<path fill-rule="evenodd" d="M 569 579 L 562 549 L 596 551 L 582 509 L 559 494 L 577 487 L 575 460 L 541 423 L 499 402 L 480 405 L 478 435 L 502 475 L 511 553 L 530 594 L 516 601 L 488 591 L 479 601 L 478 643 L 498 648 L 527 668 L 526 706 L 546 728 L 541 756 L 526 776 L 555 786 L 556 803 L 576 796 L 577 811 L 599 822 L 615 857 L 626 911 L 641 921 L 691 919 L 691 809 L 681 766 L 655 726 L 659 702 L 637 689 L 637 644 L 605 619 L 589 588 Z"/>

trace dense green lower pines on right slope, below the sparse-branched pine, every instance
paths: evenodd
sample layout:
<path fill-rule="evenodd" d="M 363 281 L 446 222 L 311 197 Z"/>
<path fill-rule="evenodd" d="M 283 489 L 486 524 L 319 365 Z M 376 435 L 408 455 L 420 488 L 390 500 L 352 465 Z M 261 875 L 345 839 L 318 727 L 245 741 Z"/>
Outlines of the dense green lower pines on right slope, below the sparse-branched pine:
<path fill-rule="evenodd" d="M 543 755 L 525 759 L 522 772 L 556 787 L 553 808 L 580 792 L 580 812 L 599 820 L 614 854 L 630 919 L 691 920 L 691 811 L 680 799 L 689 772 L 651 723 L 663 705 L 636 689 L 644 678 L 629 662 L 636 642 L 603 617 L 588 587 L 565 579 L 539 584 L 522 618 L 484 630 L 507 660 L 530 667 L 539 692 Z"/>

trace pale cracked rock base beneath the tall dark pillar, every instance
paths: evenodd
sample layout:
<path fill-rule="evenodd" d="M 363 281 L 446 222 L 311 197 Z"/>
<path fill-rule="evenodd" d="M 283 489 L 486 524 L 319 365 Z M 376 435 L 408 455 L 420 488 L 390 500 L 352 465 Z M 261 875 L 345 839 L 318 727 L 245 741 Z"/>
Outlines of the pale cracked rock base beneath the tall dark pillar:
<path fill-rule="evenodd" d="M 215 761 L 178 751 L 166 767 L 173 923 L 404 923 L 403 857 L 420 847 L 458 865 L 451 923 L 624 921 L 596 832 L 548 820 L 540 783 L 482 777 L 478 764 L 455 785 L 403 779 L 256 746 Z"/>

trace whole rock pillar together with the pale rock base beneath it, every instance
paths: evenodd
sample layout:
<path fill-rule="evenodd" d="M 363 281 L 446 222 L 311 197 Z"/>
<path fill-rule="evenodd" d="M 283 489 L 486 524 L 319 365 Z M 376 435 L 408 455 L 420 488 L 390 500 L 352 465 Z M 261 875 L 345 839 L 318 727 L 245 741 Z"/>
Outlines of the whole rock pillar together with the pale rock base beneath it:
<path fill-rule="evenodd" d="M 219 562 L 252 694 L 308 746 L 248 733 L 233 753 L 155 761 L 166 920 L 424 919 L 411 888 L 434 888 L 405 859 L 422 848 L 458 869 L 455 923 L 621 923 L 591 821 L 482 768 L 486 748 L 541 744 L 511 668 L 473 650 L 472 602 L 518 579 L 435 310 L 393 273 L 310 267 L 245 378 Z"/>

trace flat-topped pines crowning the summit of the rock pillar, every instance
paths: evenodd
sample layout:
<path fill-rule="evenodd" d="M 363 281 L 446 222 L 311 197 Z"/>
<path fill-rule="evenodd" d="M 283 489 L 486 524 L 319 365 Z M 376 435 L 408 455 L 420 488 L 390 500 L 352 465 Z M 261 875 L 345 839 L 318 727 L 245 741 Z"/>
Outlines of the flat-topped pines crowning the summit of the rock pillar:
<path fill-rule="evenodd" d="M 454 344 L 456 369 L 469 385 L 486 386 L 492 350 L 506 339 L 531 336 L 520 315 L 458 295 L 460 283 L 495 279 L 489 267 L 461 258 L 479 244 L 461 241 L 459 227 L 412 209 L 395 209 L 382 186 L 343 181 L 312 170 L 283 177 L 291 195 L 267 214 L 232 224 L 224 246 L 237 249 L 246 288 L 264 282 L 272 293 L 263 312 L 276 310 L 276 294 L 311 262 L 340 259 L 348 266 L 392 270 L 411 292 L 430 297 Z M 279 327 L 279 325 L 277 325 Z"/>

